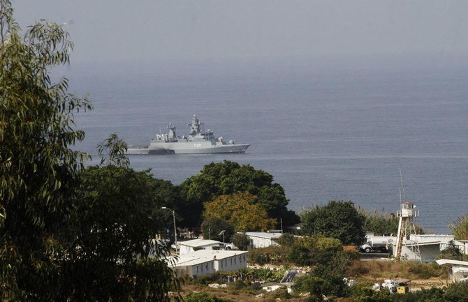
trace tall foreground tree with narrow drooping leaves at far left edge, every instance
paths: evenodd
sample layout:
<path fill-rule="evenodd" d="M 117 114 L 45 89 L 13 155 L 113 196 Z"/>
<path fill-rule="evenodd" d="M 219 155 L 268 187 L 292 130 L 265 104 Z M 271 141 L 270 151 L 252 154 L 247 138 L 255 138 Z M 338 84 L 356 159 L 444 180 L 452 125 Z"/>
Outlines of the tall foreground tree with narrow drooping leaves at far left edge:
<path fill-rule="evenodd" d="M 53 82 L 73 43 L 58 24 L 41 21 L 23 36 L 8 0 L 0 0 L 0 300 L 50 301 L 71 219 L 69 200 L 85 153 L 70 146 L 85 133 L 73 114 L 86 98 Z"/>

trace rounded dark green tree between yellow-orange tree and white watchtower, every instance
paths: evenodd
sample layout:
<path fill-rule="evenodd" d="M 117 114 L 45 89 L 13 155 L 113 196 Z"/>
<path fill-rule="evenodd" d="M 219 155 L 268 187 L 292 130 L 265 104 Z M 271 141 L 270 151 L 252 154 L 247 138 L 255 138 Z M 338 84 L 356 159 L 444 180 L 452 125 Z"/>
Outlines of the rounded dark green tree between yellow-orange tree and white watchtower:
<path fill-rule="evenodd" d="M 330 201 L 324 206 L 302 213 L 302 234 L 323 235 L 342 241 L 344 245 L 359 246 L 365 241 L 364 216 L 353 202 Z"/>

